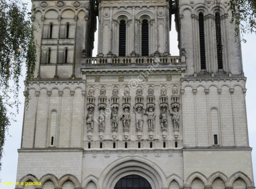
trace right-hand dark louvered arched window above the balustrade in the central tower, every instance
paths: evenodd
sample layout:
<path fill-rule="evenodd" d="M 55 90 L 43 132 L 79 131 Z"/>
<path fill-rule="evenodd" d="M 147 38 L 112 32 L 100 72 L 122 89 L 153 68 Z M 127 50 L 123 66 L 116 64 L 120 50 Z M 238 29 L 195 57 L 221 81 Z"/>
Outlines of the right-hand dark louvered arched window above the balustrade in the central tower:
<path fill-rule="evenodd" d="M 141 56 L 148 56 L 148 21 L 142 20 L 141 27 Z"/>

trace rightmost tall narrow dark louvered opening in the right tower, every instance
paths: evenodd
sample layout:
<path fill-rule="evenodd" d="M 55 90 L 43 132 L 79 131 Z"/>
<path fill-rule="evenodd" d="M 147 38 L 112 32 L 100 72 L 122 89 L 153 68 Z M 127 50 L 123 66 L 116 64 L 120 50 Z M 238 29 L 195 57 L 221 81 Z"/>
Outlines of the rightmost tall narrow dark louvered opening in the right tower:
<path fill-rule="evenodd" d="M 223 69 L 222 44 L 221 44 L 221 17 L 218 12 L 215 13 L 215 27 L 216 27 L 218 69 Z"/>

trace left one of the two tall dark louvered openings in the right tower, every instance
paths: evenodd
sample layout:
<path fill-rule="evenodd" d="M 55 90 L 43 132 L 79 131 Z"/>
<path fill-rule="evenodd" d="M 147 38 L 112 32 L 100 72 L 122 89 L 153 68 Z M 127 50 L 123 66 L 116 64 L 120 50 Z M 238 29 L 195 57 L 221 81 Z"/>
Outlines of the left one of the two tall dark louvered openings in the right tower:
<path fill-rule="evenodd" d="M 203 13 L 199 13 L 199 39 L 200 39 L 200 60 L 201 69 L 206 69 L 205 64 L 205 46 L 204 46 L 204 25 L 203 25 Z"/>

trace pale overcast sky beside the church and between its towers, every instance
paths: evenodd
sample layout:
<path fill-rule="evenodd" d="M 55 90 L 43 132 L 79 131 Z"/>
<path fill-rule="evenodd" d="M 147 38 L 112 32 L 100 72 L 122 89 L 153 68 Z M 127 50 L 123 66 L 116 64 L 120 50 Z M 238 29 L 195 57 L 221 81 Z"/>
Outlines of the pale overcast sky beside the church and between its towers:
<path fill-rule="evenodd" d="M 31 9 L 31 4 L 28 5 L 28 10 Z M 244 75 L 247 77 L 246 81 L 246 107 L 247 107 L 247 121 L 248 121 L 248 132 L 250 146 L 256 148 L 256 85 L 255 85 L 255 75 L 256 75 L 256 35 L 246 35 L 247 43 L 242 44 L 242 56 L 243 56 L 243 68 Z M 179 55 L 177 48 L 177 32 L 175 31 L 175 22 L 172 18 L 172 31 L 170 32 L 170 48 L 171 55 Z M 237 44 L 234 44 L 237 45 Z M 98 31 L 95 35 L 94 51 L 93 56 L 97 54 L 98 46 Z M 25 69 L 23 69 L 23 75 L 25 75 Z M 20 93 L 19 100 L 24 102 L 24 83 L 25 77 L 21 78 L 20 82 Z M 20 148 L 20 140 L 22 135 L 22 122 L 23 122 L 23 109 L 24 104 L 19 106 L 19 114 L 16 119 L 17 122 L 11 122 L 11 127 L 9 128 L 9 135 L 6 135 L 6 141 L 4 145 L 4 155 L 2 157 L 2 171 L 0 172 L 0 189 L 14 189 L 15 186 L 3 186 L 2 182 L 16 182 L 17 173 L 17 162 L 18 162 L 18 152 L 17 149 Z M 256 179 L 256 149 L 252 151 L 252 160 L 254 168 L 254 180 Z M 234 165 L 235 166 L 235 165 Z"/>

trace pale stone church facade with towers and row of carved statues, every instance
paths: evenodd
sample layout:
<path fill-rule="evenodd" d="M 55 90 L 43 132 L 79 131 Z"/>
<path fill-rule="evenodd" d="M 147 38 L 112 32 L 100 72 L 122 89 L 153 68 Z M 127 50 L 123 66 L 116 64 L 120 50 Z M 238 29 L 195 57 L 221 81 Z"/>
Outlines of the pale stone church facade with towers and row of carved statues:
<path fill-rule="evenodd" d="M 33 3 L 16 189 L 255 189 L 228 1 Z"/>

